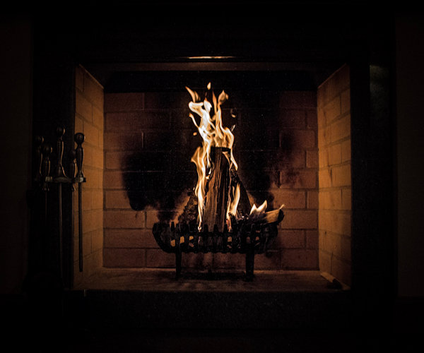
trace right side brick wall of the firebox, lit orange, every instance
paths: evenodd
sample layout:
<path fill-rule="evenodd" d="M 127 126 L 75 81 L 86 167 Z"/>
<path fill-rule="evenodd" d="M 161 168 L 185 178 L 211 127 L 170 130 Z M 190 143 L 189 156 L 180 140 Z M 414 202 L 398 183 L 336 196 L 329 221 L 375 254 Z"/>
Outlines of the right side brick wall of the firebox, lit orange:
<path fill-rule="evenodd" d="M 319 268 L 351 284 L 350 72 L 341 67 L 317 91 Z"/>

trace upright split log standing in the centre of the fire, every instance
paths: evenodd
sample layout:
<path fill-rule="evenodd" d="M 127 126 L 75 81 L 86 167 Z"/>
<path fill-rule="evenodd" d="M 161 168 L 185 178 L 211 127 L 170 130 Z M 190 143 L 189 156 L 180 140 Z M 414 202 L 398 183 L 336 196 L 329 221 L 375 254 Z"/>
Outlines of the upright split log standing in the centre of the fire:
<path fill-rule="evenodd" d="M 230 164 L 223 152 L 228 148 L 211 148 L 211 174 L 207 184 L 206 202 L 203 214 L 203 225 L 218 226 L 223 232 L 227 215 L 228 190 L 230 188 Z"/>

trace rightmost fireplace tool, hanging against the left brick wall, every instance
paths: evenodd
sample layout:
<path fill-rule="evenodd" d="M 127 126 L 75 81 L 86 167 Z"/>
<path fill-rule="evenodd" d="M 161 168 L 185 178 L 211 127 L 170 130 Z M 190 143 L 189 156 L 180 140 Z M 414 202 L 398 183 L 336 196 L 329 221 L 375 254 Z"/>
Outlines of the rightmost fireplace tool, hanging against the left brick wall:
<path fill-rule="evenodd" d="M 75 150 L 75 157 L 76 157 L 76 177 L 75 182 L 78 183 L 78 265 L 79 265 L 79 271 L 83 272 L 83 184 L 86 182 L 86 178 L 83 174 L 83 157 L 84 157 L 84 150 L 83 150 L 83 142 L 84 142 L 85 136 L 83 133 L 76 133 L 75 136 L 73 136 L 73 140 L 76 142 L 76 150 Z"/>

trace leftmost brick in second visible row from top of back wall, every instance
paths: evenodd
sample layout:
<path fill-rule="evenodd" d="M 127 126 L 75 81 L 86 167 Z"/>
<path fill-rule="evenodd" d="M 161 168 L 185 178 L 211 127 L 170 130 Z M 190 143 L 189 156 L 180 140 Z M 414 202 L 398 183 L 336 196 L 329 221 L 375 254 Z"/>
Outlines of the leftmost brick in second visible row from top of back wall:
<path fill-rule="evenodd" d="M 142 128 L 170 128 L 170 112 L 167 110 L 105 114 L 105 130 L 136 131 Z"/>

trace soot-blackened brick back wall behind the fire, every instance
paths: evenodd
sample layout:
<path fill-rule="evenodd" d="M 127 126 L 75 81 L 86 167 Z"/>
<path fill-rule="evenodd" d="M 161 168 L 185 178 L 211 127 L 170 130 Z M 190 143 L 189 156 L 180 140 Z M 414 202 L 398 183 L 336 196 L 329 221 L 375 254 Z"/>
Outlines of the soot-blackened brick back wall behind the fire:
<path fill-rule="evenodd" d="M 255 268 L 317 269 L 316 93 L 228 94 L 224 123 L 236 124 L 235 158 L 251 203 L 285 204 L 278 239 L 257 256 Z M 176 221 L 196 183 L 190 158 L 201 140 L 193 135 L 189 100 L 185 91 L 105 94 L 106 267 L 175 266 L 175 256 L 158 249 L 152 227 Z M 230 117 L 232 107 L 237 118 Z M 239 254 L 184 254 L 182 260 L 189 268 L 245 267 Z"/>

